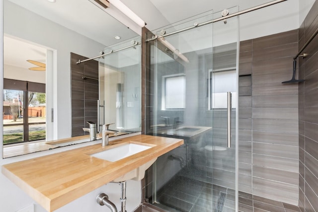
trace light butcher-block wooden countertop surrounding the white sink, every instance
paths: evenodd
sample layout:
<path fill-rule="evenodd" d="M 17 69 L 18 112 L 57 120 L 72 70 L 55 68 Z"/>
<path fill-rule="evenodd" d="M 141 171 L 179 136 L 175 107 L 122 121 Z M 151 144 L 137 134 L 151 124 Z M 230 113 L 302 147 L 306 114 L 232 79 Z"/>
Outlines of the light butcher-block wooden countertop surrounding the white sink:
<path fill-rule="evenodd" d="M 129 142 L 153 147 L 115 162 L 90 156 Z M 181 139 L 137 135 L 105 147 L 99 143 L 5 164 L 2 174 L 52 212 L 182 144 Z"/>

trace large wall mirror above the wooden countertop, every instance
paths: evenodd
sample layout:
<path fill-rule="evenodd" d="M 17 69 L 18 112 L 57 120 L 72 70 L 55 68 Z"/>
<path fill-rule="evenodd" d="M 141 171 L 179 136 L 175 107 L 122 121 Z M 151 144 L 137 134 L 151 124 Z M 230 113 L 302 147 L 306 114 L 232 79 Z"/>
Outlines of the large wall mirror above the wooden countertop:
<path fill-rule="evenodd" d="M 3 158 L 85 135 L 86 121 L 114 123 L 110 128 L 118 135 L 141 130 L 136 32 L 93 0 L 3 0 L 3 10 Z M 127 46 L 133 47 L 121 50 Z M 107 52 L 113 53 L 92 60 L 97 65 L 89 71 L 96 77 L 79 71 L 85 63 L 72 63 L 74 55 L 82 60 Z M 99 104 L 80 87 L 96 84 Z M 81 91 L 88 101 L 76 99 Z M 74 111 L 84 111 L 86 119 L 79 121 Z M 99 117 L 87 115 L 95 113 Z"/>

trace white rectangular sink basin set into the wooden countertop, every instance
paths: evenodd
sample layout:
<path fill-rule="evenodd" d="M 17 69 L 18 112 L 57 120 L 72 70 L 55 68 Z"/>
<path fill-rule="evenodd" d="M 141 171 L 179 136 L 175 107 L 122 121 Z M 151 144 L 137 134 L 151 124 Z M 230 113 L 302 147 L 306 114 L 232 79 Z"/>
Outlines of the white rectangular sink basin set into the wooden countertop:
<path fill-rule="evenodd" d="M 149 148 L 151 148 L 151 146 L 127 143 L 124 145 L 117 146 L 115 148 L 91 154 L 90 156 L 97 157 L 103 160 L 108 160 L 110 162 L 115 162 L 117 160 L 123 159 L 125 157 L 128 157 L 130 155 L 136 154 Z"/>

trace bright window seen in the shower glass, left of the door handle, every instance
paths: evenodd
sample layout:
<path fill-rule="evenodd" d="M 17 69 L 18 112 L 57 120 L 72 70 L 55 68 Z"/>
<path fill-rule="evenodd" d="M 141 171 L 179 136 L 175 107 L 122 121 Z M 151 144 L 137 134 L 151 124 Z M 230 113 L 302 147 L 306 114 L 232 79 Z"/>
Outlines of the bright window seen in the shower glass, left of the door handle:
<path fill-rule="evenodd" d="M 185 75 L 162 76 L 162 110 L 181 110 L 185 108 Z"/>

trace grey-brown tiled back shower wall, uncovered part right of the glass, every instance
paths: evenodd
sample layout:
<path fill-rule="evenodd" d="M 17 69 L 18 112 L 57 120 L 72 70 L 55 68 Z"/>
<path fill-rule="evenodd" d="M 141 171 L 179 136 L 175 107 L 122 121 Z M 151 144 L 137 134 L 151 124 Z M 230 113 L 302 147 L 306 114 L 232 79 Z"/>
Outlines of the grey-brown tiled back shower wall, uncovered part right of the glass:
<path fill-rule="evenodd" d="M 298 205 L 298 84 L 281 82 L 291 79 L 297 52 L 293 30 L 241 42 L 239 59 L 239 181 L 245 179 L 239 190 L 293 205 Z M 249 77 L 251 96 L 242 96 Z"/>

